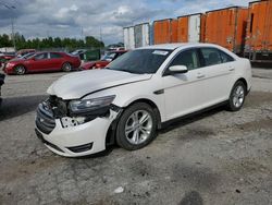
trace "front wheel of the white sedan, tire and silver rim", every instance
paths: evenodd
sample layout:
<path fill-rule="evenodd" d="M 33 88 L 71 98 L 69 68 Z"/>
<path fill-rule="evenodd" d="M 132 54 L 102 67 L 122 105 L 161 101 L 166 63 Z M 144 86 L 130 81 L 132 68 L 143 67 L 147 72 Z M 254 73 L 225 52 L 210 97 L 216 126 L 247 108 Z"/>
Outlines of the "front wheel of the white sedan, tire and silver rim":
<path fill-rule="evenodd" d="M 145 102 L 128 107 L 116 129 L 116 143 L 124 149 L 135 150 L 148 145 L 156 137 L 157 120 L 153 109 Z"/>

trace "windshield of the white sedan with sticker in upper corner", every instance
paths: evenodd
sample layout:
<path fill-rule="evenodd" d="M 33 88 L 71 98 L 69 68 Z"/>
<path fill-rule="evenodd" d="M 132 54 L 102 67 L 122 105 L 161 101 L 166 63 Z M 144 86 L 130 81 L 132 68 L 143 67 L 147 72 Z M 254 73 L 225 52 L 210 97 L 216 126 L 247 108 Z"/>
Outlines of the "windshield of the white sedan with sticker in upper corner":
<path fill-rule="evenodd" d="M 156 73 L 172 50 L 139 49 L 124 53 L 107 68 L 129 73 Z"/>

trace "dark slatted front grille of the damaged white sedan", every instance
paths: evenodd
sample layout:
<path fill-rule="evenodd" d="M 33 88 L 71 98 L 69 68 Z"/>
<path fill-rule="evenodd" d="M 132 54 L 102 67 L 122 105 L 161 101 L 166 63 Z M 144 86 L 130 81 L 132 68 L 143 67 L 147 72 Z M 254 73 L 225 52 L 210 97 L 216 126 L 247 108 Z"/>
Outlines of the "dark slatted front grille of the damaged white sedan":
<path fill-rule="evenodd" d="M 55 126 L 53 112 L 47 102 L 38 106 L 36 125 L 45 134 L 50 134 Z"/>

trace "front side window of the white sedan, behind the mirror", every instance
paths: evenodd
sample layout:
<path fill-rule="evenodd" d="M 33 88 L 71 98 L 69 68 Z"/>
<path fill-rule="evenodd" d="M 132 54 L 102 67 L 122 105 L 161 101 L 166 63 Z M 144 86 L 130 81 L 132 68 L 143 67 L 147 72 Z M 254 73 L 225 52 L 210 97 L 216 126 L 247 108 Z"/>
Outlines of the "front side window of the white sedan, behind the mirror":
<path fill-rule="evenodd" d="M 182 51 L 171 62 L 170 67 L 172 65 L 185 65 L 188 68 L 188 70 L 200 68 L 197 50 L 193 49 L 193 50 Z"/>

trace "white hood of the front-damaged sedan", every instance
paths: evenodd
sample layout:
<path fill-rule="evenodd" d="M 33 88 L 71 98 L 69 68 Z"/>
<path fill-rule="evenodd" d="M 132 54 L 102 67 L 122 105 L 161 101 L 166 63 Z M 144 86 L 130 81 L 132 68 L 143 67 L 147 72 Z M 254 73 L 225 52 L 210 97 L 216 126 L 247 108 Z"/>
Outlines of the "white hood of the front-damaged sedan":
<path fill-rule="evenodd" d="M 71 73 L 55 81 L 47 91 L 62 99 L 78 99 L 100 89 L 149 80 L 152 74 L 133 74 L 113 70 L 89 70 Z"/>

